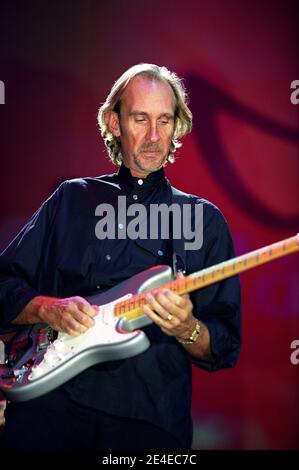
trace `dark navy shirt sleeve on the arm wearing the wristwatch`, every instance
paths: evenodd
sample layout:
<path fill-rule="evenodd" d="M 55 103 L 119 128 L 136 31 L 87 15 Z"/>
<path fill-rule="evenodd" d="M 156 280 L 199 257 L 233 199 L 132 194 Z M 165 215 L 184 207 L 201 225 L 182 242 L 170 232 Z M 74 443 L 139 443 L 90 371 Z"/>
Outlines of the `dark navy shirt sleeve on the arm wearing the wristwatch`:
<path fill-rule="evenodd" d="M 216 221 L 215 221 L 216 218 Z M 220 212 L 207 227 L 204 266 L 209 267 L 235 256 L 227 223 Z M 241 305 L 239 277 L 233 276 L 191 295 L 194 315 L 207 326 L 213 359 L 204 361 L 190 356 L 191 362 L 210 372 L 233 367 L 241 344 Z"/>

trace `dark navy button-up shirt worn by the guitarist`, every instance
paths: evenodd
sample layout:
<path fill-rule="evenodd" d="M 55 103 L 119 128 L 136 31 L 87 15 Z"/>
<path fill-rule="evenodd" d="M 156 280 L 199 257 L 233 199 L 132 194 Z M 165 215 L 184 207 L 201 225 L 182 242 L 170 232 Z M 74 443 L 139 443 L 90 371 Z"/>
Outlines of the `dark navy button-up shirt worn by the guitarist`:
<path fill-rule="evenodd" d="M 99 240 L 96 207 L 109 203 L 117 214 L 118 196 L 126 205 L 172 202 L 203 205 L 203 245 L 182 250 L 167 239 L 116 237 Z M 194 211 L 193 211 L 194 212 Z M 192 214 L 193 214 L 192 212 Z M 127 223 L 130 218 L 127 219 Z M 193 221 L 194 222 L 194 221 Z M 119 227 L 119 224 L 120 227 Z M 125 230 L 116 221 L 116 231 Z M 234 256 L 227 223 L 219 209 L 173 188 L 163 170 L 134 178 L 118 174 L 68 180 L 38 209 L 0 256 L 0 326 L 10 322 L 37 295 L 89 296 L 179 253 L 186 274 Z M 144 328 L 151 347 L 126 360 L 92 367 L 64 385 L 71 398 L 108 413 L 149 421 L 191 439 L 191 364 L 215 371 L 232 367 L 240 351 L 240 290 L 232 277 L 191 295 L 194 315 L 209 329 L 213 360 L 190 356 L 173 337 L 152 324 Z"/>

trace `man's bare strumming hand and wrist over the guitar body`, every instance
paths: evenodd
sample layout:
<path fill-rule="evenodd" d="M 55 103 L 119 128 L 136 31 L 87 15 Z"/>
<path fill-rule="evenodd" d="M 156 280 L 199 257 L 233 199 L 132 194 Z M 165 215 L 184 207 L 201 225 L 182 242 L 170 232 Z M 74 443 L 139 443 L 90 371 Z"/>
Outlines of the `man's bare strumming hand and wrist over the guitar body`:
<path fill-rule="evenodd" d="M 98 313 L 83 297 L 34 297 L 12 323 L 47 323 L 53 330 L 72 336 L 85 333 L 94 325 L 93 317 Z"/>

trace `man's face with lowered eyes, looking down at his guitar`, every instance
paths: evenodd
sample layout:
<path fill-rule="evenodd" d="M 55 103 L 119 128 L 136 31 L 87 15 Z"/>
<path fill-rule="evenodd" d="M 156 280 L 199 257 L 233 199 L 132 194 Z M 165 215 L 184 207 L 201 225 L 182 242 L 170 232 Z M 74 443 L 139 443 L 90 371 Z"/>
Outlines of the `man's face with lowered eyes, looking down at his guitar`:
<path fill-rule="evenodd" d="M 110 129 L 120 137 L 123 162 L 144 178 L 165 162 L 174 133 L 175 96 L 167 83 L 137 76 L 121 97 L 120 119 Z"/>

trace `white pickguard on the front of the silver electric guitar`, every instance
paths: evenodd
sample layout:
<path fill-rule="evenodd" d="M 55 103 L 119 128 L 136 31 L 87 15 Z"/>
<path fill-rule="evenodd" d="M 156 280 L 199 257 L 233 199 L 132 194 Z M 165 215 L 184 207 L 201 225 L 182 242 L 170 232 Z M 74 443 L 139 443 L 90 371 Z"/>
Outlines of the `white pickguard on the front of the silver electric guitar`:
<path fill-rule="evenodd" d="M 59 333 L 58 338 L 47 348 L 42 361 L 32 367 L 28 380 L 34 381 L 44 376 L 83 351 L 93 347 L 119 344 L 136 336 L 138 332 L 118 331 L 117 323 L 119 318 L 114 316 L 114 305 L 130 297 L 132 297 L 132 294 L 127 294 L 113 302 L 102 305 L 94 317 L 95 325 L 80 336 Z"/>

